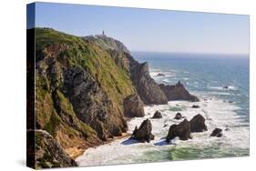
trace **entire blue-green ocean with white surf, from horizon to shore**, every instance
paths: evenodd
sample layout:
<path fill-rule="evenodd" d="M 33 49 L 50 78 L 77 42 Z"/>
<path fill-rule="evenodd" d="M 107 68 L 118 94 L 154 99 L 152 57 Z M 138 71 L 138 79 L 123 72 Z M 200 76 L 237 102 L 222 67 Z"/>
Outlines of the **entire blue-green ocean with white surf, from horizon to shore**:
<path fill-rule="evenodd" d="M 138 143 L 128 137 L 107 145 L 89 148 L 76 161 L 79 166 L 118 165 L 174 160 L 249 156 L 249 56 L 181 53 L 132 52 L 139 62 L 148 62 L 152 78 L 158 83 L 175 85 L 181 81 L 200 102 L 171 101 L 168 105 L 145 106 L 146 116 L 128 121 L 128 132 L 159 110 L 163 118 L 150 119 L 155 139 Z M 163 74 L 163 75 L 159 75 Z M 228 89 L 223 88 L 228 86 Z M 200 108 L 191 108 L 198 105 Z M 191 134 L 192 139 L 172 140 L 165 136 L 169 126 L 179 124 L 176 113 L 187 119 L 200 114 L 206 118 L 208 131 Z M 167 126 L 165 126 L 167 125 Z M 210 137 L 216 127 L 223 136 Z"/>

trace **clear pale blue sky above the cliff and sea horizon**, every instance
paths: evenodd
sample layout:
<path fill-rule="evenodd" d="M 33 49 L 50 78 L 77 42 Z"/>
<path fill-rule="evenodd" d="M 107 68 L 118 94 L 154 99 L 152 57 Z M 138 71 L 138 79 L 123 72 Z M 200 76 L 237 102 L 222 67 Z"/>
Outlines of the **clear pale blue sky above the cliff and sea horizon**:
<path fill-rule="evenodd" d="M 51 27 L 79 36 L 104 30 L 130 51 L 249 54 L 249 15 L 51 3 L 35 8 L 36 14 L 28 8 L 28 28 Z"/>

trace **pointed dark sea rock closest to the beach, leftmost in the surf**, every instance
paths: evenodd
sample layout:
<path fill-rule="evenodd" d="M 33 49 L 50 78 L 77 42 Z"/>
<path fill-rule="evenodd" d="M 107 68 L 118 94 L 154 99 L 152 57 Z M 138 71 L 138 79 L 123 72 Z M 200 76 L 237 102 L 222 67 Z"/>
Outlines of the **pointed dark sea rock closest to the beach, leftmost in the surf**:
<path fill-rule="evenodd" d="M 150 140 L 154 139 L 154 135 L 151 134 L 152 131 L 152 124 L 149 119 L 146 119 L 142 122 L 142 124 L 139 127 L 135 127 L 132 138 L 138 140 L 139 142 L 145 142 L 147 141 L 148 143 Z"/>

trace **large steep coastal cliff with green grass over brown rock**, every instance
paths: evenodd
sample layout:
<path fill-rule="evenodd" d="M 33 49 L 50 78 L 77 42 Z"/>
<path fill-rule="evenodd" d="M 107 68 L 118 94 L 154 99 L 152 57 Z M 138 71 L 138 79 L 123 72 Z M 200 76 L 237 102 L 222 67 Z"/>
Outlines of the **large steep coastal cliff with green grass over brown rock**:
<path fill-rule="evenodd" d="M 48 151 L 49 142 L 54 142 L 67 156 L 62 164 L 48 153 L 56 165 L 76 166 L 70 150 L 74 147 L 85 150 L 122 136 L 128 129 L 126 117 L 144 116 L 144 104 L 197 99 L 188 96 L 183 85 L 178 93 L 177 88 L 171 90 L 175 98 L 170 98 L 169 89 L 150 77 L 148 63 L 139 64 L 125 45 L 111 37 L 78 37 L 50 28 L 27 30 L 31 31 L 36 32 L 35 129 L 43 130 L 36 132 L 41 135 L 36 146 Z M 55 166 L 47 158 L 36 162 L 36 168 Z"/>

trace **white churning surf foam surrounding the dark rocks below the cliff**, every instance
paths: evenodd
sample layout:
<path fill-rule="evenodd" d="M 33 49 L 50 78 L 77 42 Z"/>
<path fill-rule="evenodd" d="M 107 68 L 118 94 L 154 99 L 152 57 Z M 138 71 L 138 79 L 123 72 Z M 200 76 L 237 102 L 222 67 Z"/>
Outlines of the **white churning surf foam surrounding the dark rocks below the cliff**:
<path fill-rule="evenodd" d="M 172 101 L 168 105 L 145 106 L 146 116 L 131 119 L 128 122 L 128 132 L 132 133 L 135 126 L 140 126 L 143 120 L 151 118 L 159 110 L 163 118 L 150 119 L 155 140 L 143 144 L 130 140 L 128 137 L 118 139 L 108 145 L 87 149 L 84 155 L 77 157 L 77 164 L 79 166 L 97 166 L 135 163 L 139 161 L 139 158 L 147 157 L 145 156 L 146 152 L 158 150 L 161 153 L 161 151 L 169 150 L 174 146 L 203 147 L 216 144 L 223 151 L 230 148 L 248 149 L 249 126 L 243 126 L 242 117 L 235 112 L 240 107 L 235 104 L 224 103 L 222 100 L 211 96 L 201 96 L 200 99 L 200 102 L 193 104 L 186 101 Z M 191 108 L 192 105 L 199 105 L 200 108 Z M 173 110 L 174 108 L 181 110 L 179 112 L 182 116 L 186 116 L 189 120 L 193 116 L 201 114 L 206 118 L 206 125 L 209 130 L 203 133 L 193 133 L 193 138 L 188 141 L 180 141 L 179 138 L 176 138 L 172 141 L 173 145 L 167 145 L 164 137 L 168 134 L 169 126 L 181 122 L 173 119 L 177 113 Z M 210 133 L 216 127 L 223 129 L 224 136 L 220 138 L 210 137 Z M 163 159 L 159 161 L 163 161 Z"/>

